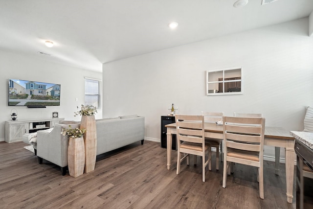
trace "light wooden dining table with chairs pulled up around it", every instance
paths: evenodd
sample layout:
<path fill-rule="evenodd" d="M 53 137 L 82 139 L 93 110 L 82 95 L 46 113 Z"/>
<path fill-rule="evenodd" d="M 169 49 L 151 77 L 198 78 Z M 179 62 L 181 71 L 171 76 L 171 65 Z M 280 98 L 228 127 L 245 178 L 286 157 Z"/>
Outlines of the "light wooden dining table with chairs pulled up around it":
<path fill-rule="evenodd" d="M 171 167 L 172 159 L 172 135 L 177 134 L 176 123 L 165 125 L 167 128 L 167 169 Z M 204 123 L 204 136 L 206 138 L 223 139 L 223 125 L 216 123 Z M 290 135 L 290 131 L 282 127 L 265 127 L 264 145 L 275 147 L 275 174 L 279 174 L 280 147 L 285 148 L 285 166 L 286 166 L 286 195 L 287 202 L 292 203 L 293 195 L 293 173 L 295 163 L 294 151 L 295 139 Z M 223 143 L 222 143 L 223 144 Z M 223 147 L 223 146 L 222 146 Z M 223 150 L 222 150 L 223 153 Z M 222 154 L 223 156 L 223 154 Z"/>

